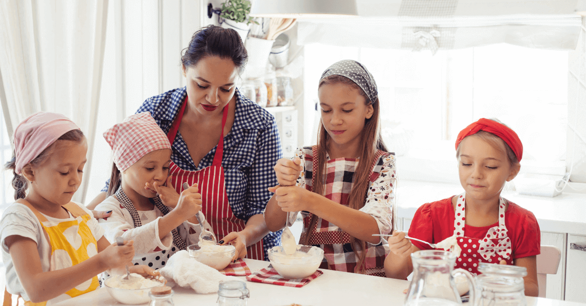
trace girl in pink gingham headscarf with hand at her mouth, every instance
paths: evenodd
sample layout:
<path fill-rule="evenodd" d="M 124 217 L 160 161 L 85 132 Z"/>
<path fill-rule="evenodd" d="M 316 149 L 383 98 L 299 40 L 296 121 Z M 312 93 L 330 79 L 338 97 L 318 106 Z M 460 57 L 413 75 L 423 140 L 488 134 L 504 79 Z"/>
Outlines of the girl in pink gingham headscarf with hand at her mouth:
<path fill-rule="evenodd" d="M 195 214 L 202 200 L 197 185 L 180 196 L 169 183 L 171 187 L 163 186 L 168 180 L 171 144 L 149 112 L 129 116 L 104 137 L 114 151 L 109 197 L 96 207 L 112 211 L 100 219 L 104 235 L 133 239 L 132 262 L 162 268 L 173 253 L 199 241 Z"/>

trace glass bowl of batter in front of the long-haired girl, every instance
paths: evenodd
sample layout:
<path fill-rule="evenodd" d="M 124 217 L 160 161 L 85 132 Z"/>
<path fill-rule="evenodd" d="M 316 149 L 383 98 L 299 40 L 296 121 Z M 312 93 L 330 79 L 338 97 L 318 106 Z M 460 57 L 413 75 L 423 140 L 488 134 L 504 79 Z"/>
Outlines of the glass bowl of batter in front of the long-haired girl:
<path fill-rule="evenodd" d="M 268 250 L 268 260 L 284 279 L 304 279 L 311 276 L 323 260 L 323 250 L 316 246 L 297 245 L 292 255 L 287 255 L 282 246 Z"/>

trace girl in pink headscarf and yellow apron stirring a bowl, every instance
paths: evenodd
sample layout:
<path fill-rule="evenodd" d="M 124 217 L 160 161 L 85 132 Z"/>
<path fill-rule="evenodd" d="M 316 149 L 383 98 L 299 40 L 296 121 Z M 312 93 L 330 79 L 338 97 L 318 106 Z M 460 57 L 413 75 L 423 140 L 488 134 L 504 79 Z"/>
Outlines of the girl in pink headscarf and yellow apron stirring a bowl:
<path fill-rule="evenodd" d="M 14 172 L 16 201 L 0 220 L 6 291 L 21 295 L 25 305 L 51 305 L 96 290 L 97 274 L 130 263 L 134 246 L 132 240 L 110 245 L 91 212 L 71 202 L 86 163 L 86 138 L 65 116 L 37 112 L 16 127 L 13 141 L 6 168 Z"/>

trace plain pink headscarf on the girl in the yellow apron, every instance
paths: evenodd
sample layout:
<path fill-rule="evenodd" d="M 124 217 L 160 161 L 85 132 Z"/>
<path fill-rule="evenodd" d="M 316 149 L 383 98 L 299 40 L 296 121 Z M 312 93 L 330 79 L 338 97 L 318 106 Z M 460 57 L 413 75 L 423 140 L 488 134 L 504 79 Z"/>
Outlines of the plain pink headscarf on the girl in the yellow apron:
<path fill-rule="evenodd" d="M 14 130 L 14 150 L 16 155 L 16 174 L 30 163 L 64 133 L 79 130 L 66 116 L 52 112 L 36 112 L 16 126 Z"/>

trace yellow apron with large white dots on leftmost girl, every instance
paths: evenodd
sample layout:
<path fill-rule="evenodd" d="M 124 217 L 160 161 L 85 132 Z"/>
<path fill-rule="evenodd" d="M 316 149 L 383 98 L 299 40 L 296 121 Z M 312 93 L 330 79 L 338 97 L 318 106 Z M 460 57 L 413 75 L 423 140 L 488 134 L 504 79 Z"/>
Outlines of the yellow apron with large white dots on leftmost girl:
<path fill-rule="evenodd" d="M 21 201 L 20 203 L 26 205 L 35 214 L 39 219 L 40 225 L 49 236 L 49 243 L 51 245 L 50 271 L 75 266 L 98 253 L 96 238 L 94 238 L 90 228 L 87 226 L 87 221 L 91 219 L 91 216 L 77 204 L 69 202 L 63 205 L 63 208 L 69 211 L 73 218 L 75 218 L 74 220 L 56 223 L 49 221 L 43 214 L 32 207 L 29 202 Z M 94 291 L 99 286 L 98 277 L 94 276 L 92 279 L 72 288 L 65 294 L 70 297 L 77 297 L 78 295 Z M 46 301 L 40 303 L 25 301 L 26 306 L 45 306 L 46 304 Z"/>

